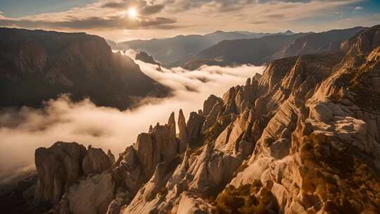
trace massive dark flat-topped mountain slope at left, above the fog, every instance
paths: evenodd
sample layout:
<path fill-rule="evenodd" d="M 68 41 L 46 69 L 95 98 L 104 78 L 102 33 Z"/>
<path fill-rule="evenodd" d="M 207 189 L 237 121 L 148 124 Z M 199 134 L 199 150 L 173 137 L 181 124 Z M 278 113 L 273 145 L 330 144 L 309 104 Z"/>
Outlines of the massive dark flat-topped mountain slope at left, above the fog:
<path fill-rule="evenodd" d="M 125 109 L 138 97 L 167 92 L 101 37 L 0 28 L 0 106 L 39 106 L 70 93 Z"/>

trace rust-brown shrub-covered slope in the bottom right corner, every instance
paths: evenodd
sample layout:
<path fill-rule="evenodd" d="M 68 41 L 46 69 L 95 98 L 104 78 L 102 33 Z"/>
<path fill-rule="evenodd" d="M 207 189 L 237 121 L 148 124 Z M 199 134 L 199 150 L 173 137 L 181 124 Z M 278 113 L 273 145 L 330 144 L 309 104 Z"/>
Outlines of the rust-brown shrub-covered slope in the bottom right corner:
<path fill-rule="evenodd" d="M 307 137 L 300 151 L 301 190 L 325 203 L 328 213 L 376 213 L 380 210 L 380 180 L 355 148 L 333 144 L 322 134 Z"/>

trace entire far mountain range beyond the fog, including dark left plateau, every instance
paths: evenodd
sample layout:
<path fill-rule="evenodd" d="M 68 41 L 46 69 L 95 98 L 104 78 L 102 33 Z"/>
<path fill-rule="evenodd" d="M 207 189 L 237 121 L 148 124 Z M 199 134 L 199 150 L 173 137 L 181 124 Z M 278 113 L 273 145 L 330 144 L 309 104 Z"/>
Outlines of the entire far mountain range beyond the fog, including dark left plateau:
<path fill-rule="evenodd" d="M 75 101 L 89 97 L 97 105 L 125 109 L 142 97 L 169 93 L 131 58 L 112 49 L 145 51 L 137 59 L 189 70 L 201 65 L 262 65 L 288 56 L 339 51 L 343 42 L 364 29 L 296 34 L 217 31 L 116 44 L 84 33 L 0 28 L 0 106 L 40 106 L 68 93 Z"/>

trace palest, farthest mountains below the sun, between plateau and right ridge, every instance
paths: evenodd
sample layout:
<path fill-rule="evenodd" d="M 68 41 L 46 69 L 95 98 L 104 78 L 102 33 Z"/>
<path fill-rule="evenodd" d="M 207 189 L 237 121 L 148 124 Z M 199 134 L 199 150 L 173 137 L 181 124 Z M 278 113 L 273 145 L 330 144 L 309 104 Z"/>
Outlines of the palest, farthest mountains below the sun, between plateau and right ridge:
<path fill-rule="evenodd" d="M 277 34 L 293 34 L 290 30 Z M 113 49 L 134 49 L 135 51 L 144 51 L 153 56 L 157 61 L 166 67 L 179 66 L 185 63 L 189 58 L 195 56 L 200 51 L 217 44 L 223 40 L 232 39 L 257 39 L 268 35 L 277 35 L 269 33 L 255 33 L 245 31 L 224 32 L 218 30 L 210 34 L 190 34 L 178 35 L 167 39 L 150 39 L 150 40 L 132 40 L 120 42 L 115 46 L 115 42 L 108 41 Z"/>

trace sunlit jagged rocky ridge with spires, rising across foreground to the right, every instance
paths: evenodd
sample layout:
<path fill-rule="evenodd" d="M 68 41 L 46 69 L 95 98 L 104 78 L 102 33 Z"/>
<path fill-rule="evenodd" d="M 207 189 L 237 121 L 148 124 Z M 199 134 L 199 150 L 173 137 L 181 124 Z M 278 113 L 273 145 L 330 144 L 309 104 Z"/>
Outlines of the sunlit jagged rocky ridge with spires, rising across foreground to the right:
<path fill-rule="evenodd" d="M 380 26 L 343 50 L 274 61 L 187 122 L 179 111 L 178 126 L 173 113 L 112 168 L 64 188 L 51 213 L 101 212 L 104 201 L 108 214 L 378 213 Z M 85 187 L 102 200 L 89 203 Z"/>

